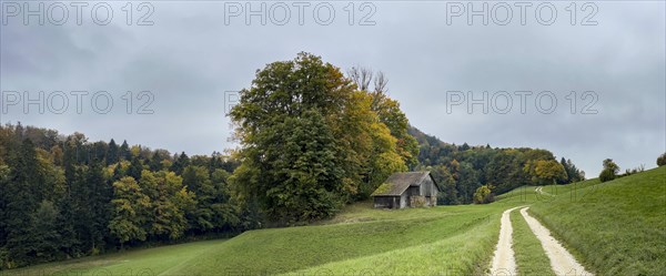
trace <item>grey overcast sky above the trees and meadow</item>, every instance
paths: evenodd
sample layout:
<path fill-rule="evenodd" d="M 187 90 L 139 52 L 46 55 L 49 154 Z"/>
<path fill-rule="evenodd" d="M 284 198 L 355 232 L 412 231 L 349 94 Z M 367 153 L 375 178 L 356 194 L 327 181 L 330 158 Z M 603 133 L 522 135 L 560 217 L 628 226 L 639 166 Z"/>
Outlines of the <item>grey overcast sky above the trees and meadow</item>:
<path fill-rule="evenodd" d="M 468 8 L 483 11 L 481 1 L 42 2 L 42 12 L 38 3 L 28 7 L 37 16 L 24 18 L 23 2 L 2 2 L 2 123 L 221 152 L 232 146 L 224 114 L 234 98 L 225 91 L 306 51 L 343 70 L 383 71 L 411 123 L 445 142 L 547 149 L 588 177 L 607 157 L 623 171 L 654 167 L 666 150 L 663 1 L 485 2 L 487 24 L 483 14 L 468 22 Z M 246 14 L 259 16 L 246 22 Z M 43 114 L 39 104 L 24 110 L 26 95 Z"/>

